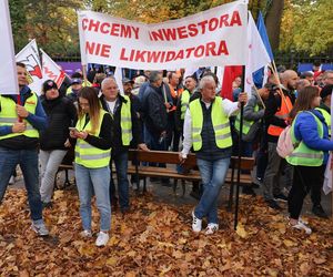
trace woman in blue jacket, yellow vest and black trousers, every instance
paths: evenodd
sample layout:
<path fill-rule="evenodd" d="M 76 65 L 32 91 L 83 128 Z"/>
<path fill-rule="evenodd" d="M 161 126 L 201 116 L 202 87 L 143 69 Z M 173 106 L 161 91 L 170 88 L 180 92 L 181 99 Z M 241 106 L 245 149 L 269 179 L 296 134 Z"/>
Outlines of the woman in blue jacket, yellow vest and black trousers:
<path fill-rule="evenodd" d="M 333 142 L 329 140 L 327 125 L 323 115 L 315 110 L 321 98 L 316 86 L 305 86 L 299 92 L 291 111 L 292 141 L 296 147 L 286 161 L 294 166 L 294 178 L 289 193 L 289 224 L 296 229 L 311 234 L 311 228 L 300 219 L 303 201 L 310 189 L 322 185 L 324 167 Z"/>

